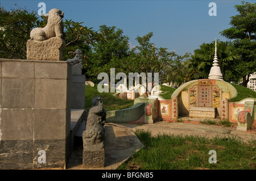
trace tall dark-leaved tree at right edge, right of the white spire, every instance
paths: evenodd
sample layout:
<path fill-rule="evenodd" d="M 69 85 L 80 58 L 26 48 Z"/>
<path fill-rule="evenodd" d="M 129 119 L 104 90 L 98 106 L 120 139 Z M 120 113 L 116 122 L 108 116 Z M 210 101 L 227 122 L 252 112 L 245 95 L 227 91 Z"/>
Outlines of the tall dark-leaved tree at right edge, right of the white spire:
<path fill-rule="evenodd" d="M 222 36 L 234 40 L 234 47 L 241 57 L 237 67 L 243 78 L 243 86 L 246 87 L 250 73 L 256 71 L 256 3 L 243 1 L 242 5 L 236 5 L 235 8 L 239 14 L 231 17 L 230 25 L 232 27 L 220 33 Z"/>

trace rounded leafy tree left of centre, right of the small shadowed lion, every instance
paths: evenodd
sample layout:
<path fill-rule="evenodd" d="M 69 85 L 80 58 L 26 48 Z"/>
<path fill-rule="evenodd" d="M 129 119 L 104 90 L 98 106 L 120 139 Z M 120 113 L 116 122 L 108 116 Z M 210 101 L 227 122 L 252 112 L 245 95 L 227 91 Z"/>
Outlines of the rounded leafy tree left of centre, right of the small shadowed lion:
<path fill-rule="evenodd" d="M 123 59 L 129 56 L 129 37 L 123 35 L 123 31 L 115 26 L 100 26 L 98 33 L 106 41 L 97 41 L 88 53 L 86 62 L 86 74 L 95 78 L 101 72 L 110 74 L 110 68 L 123 72 Z"/>

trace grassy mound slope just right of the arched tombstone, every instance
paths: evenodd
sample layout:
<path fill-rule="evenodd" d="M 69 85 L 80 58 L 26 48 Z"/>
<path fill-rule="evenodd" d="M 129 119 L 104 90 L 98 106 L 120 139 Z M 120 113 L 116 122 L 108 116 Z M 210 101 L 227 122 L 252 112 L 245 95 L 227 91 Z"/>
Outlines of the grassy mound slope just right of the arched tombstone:
<path fill-rule="evenodd" d="M 247 87 L 239 86 L 234 83 L 231 83 L 237 90 L 237 96 L 235 98 L 230 99 L 230 102 L 238 102 L 245 98 L 256 98 L 256 92 L 250 90 Z"/>

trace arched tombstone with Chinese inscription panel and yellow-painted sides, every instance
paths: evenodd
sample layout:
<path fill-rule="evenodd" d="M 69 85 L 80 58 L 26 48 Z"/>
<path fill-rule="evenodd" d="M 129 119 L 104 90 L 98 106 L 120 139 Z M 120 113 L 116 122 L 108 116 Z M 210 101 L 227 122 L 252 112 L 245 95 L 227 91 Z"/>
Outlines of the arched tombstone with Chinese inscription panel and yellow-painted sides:
<path fill-rule="evenodd" d="M 229 116 L 228 100 L 236 94 L 236 89 L 225 81 L 215 79 L 189 81 L 172 94 L 172 112 L 179 112 L 180 115 L 189 117 L 225 120 Z"/>

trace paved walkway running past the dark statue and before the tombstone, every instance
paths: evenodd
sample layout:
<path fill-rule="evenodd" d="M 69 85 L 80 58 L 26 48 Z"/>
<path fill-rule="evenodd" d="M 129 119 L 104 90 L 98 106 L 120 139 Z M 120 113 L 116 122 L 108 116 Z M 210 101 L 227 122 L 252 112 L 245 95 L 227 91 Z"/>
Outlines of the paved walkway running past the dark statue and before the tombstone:
<path fill-rule="evenodd" d="M 105 167 L 97 169 L 117 169 L 127 158 L 130 158 L 134 151 L 143 148 L 141 141 L 135 136 L 136 129 L 148 130 L 153 136 L 157 134 L 182 134 L 241 138 L 243 141 L 256 139 L 255 133 L 238 132 L 236 128 L 222 127 L 217 125 L 205 125 L 190 123 L 177 123 L 159 121 L 154 124 L 114 124 L 106 123 L 105 131 Z M 67 169 L 83 169 L 82 149 L 74 150 Z"/>

